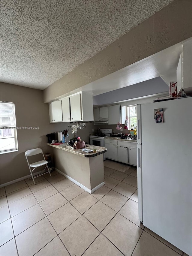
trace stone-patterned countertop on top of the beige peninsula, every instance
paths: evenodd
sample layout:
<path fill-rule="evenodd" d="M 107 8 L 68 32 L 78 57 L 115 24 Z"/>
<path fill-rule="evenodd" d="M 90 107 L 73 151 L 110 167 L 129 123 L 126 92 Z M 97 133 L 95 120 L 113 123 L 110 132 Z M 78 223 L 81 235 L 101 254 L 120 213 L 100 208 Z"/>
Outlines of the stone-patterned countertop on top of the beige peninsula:
<path fill-rule="evenodd" d="M 85 152 L 82 151 L 82 149 L 68 149 L 66 147 L 65 143 L 60 144 L 60 145 L 52 145 L 51 143 L 47 143 L 47 145 L 52 146 L 52 147 L 57 148 L 57 149 L 61 149 L 61 150 L 70 152 L 70 153 L 75 154 L 75 155 L 80 155 L 82 157 L 94 157 L 94 156 L 104 154 L 105 152 L 107 152 L 107 148 L 93 146 L 93 145 L 86 145 L 88 147 L 85 147 L 85 149 L 91 149 L 91 150 L 97 149 L 96 153 L 94 153 L 94 152 L 85 153 Z"/>

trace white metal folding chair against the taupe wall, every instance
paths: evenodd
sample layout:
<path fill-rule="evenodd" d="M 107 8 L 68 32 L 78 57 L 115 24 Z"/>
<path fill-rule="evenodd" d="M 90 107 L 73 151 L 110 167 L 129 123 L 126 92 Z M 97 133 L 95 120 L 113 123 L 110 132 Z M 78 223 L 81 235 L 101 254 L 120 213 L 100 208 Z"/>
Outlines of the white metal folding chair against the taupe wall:
<path fill-rule="evenodd" d="M 38 148 L 38 149 L 30 149 L 30 150 L 27 150 L 27 151 L 25 152 L 25 156 L 26 156 L 26 159 L 27 159 L 27 163 L 28 163 L 28 165 L 29 165 L 30 173 L 31 173 L 31 174 L 29 175 L 29 179 L 33 179 L 34 184 L 35 184 L 35 180 L 34 180 L 34 179 L 37 178 L 37 177 L 39 177 L 39 176 L 41 176 L 41 175 L 43 175 L 43 174 L 45 174 L 45 173 L 49 173 L 50 176 L 51 176 L 51 173 L 50 173 L 50 171 L 49 171 L 49 167 L 48 167 L 48 165 L 47 165 L 48 162 L 45 160 L 44 154 L 43 154 L 44 160 L 41 160 L 41 161 L 38 161 L 38 162 L 35 162 L 35 163 L 32 163 L 32 164 L 29 164 L 29 161 L 28 161 L 28 157 L 29 157 L 29 156 L 38 155 L 38 154 L 41 154 L 41 153 L 43 154 L 43 151 L 42 151 L 42 149 L 40 149 L 40 148 Z M 45 168 L 44 168 L 44 170 L 42 171 L 42 173 L 40 173 L 39 175 L 33 176 L 33 171 L 34 171 L 37 167 L 42 166 L 42 165 L 46 165 Z M 31 167 L 34 168 L 34 169 L 31 170 Z M 46 168 L 47 168 L 48 171 L 47 171 L 47 172 L 44 172 Z M 31 178 L 30 178 L 30 176 L 31 176 Z"/>

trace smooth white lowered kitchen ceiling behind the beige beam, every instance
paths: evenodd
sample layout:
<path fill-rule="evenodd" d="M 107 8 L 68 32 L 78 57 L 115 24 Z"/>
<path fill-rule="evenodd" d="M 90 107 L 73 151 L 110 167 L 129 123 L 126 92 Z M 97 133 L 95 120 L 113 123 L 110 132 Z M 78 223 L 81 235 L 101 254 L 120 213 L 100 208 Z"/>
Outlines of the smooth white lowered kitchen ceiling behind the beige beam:
<path fill-rule="evenodd" d="M 191 39 L 189 38 L 183 42 L 191 41 Z M 183 51 L 183 42 L 82 86 L 78 90 L 91 92 L 93 96 L 96 96 L 156 77 L 161 77 L 168 85 L 170 81 L 174 81 L 177 78 L 176 70 L 179 56 Z"/>

